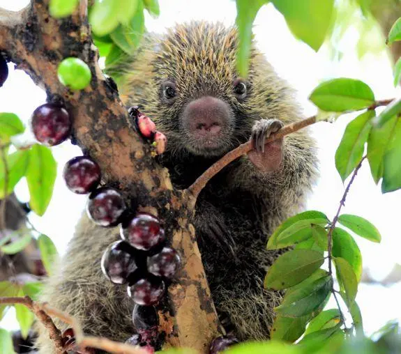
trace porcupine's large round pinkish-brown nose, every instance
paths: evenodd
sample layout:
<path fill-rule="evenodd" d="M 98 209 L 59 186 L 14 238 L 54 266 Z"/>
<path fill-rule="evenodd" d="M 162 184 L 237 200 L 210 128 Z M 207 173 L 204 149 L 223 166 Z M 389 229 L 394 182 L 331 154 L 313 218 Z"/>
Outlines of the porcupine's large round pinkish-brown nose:
<path fill-rule="evenodd" d="M 184 126 L 195 137 L 218 137 L 229 122 L 229 107 L 224 101 L 204 96 L 190 102 L 183 112 Z"/>

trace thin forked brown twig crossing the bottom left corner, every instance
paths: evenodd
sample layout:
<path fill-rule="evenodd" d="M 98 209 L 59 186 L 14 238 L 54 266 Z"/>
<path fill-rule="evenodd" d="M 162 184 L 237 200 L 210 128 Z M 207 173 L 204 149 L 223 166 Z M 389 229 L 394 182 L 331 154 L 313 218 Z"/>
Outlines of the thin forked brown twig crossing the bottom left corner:
<path fill-rule="evenodd" d="M 54 316 L 59 318 L 61 321 L 68 323 L 74 330 L 76 344 L 78 348 L 96 348 L 101 351 L 107 351 L 108 353 L 114 354 L 147 354 L 149 353 L 145 349 L 130 346 L 129 344 L 123 344 L 116 341 L 111 341 L 107 338 L 99 338 L 99 337 L 84 337 L 82 334 L 82 330 L 78 321 L 66 314 L 63 311 L 59 311 L 47 305 L 47 303 L 40 303 L 32 301 L 29 296 L 25 296 L 24 298 L 16 297 L 16 298 L 0 298 L 0 304 L 9 304 L 9 305 L 24 305 L 28 307 L 33 314 L 40 320 L 43 325 L 50 332 L 50 339 L 54 341 L 54 345 L 56 346 L 56 353 L 63 354 L 63 337 L 61 332 L 50 316 Z"/>

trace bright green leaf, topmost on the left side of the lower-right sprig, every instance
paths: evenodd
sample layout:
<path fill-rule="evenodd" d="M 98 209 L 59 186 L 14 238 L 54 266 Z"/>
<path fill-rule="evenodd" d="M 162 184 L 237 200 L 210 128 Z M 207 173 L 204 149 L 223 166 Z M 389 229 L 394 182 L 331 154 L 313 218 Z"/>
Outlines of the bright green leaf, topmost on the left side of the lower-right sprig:
<path fill-rule="evenodd" d="M 309 229 L 312 224 L 325 225 L 327 223 L 326 215 L 315 210 L 308 210 L 289 217 L 270 236 L 267 249 L 280 249 L 294 245 L 294 243 L 310 237 L 310 233 L 303 229 Z"/>

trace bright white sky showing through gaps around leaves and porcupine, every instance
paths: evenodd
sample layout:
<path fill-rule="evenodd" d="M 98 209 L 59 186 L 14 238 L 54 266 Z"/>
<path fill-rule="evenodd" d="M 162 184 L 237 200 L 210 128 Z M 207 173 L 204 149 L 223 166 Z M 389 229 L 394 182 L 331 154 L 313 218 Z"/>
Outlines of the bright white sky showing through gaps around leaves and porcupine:
<path fill-rule="evenodd" d="M 17 10 L 27 0 L 0 0 L 0 7 Z M 234 1 L 229 0 L 160 0 L 160 17 L 153 20 L 146 15 L 146 27 L 162 32 L 178 22 L 189 20 L 220 21 L 233 24 L 236 16 Z M 305 115 L 315 114 L 315 107 L 308 102 L 308 95 L 323 79 L 351 77 L 363 79 L 369 84 L 377 99 L 393 98 L 400 95 L 393 88 L 391 63 L 385 53 L 379 56 L 367 55 L 362 62 L 355 53 L 358 31 L 349 29 L 340 43 L 344 56 L 340 63 L 328 59 L 328 52 L 322 48 L 315 53 L 308 45 L 296 40 L 287 28 L 284 18 L 273 6 L 264 6 L 259 11 L 254 26 L 259 48 L 266 54 L 275 69 L 298 91 L 298 100 L 305 109 Z M 10 69 L 12 66 L 10 66 Z M 0 111 L 18 114 L 27 122 L 33 109 L 45 102 L 45 93 L 36 87 L 31 79 L 19 70 L 10 70 L 9 78 L 0 88 Z M 313 134 L 319 144 L 321 178 L 308 202 L 309 209 L 321 210 L 332 218 L 338 208 L 344 187 L 335 170 L 334 155 L 342 132 L 353 116 L 340 118 L 334 124 L 317 123 Z M 73 236 L 77 218 L 84 209 L 86 197 L 68 191 L 61 177 L 63 165 L 71 157 L 80 155 L 80 149 L 69 142 L 53 148 L 59 163 L 59 175 L 54 188 L 50 207 L 43 217 L 31 216 L 36 228 L 54 240 L 61 254 Z M 17 185 L 17 195 L 27 201 L 27 187 L 22 181 Z M 370 176 L 368 163 L 359 172 L 347 198 L 343 213 L 360 215 L 370 220 L 381 231 L 381 244 L 370 243 L 356 236 L 363 254 L 364 270 L 375 279 L 383 279 L 395 263 L 401 263 L 401 231 L 399 226 L 401 191 L 381 194 Z M 401 284 L 390 287 L 361 284 L 357 295 L 361 307 L 365 331 L 370 334 L 391 318 L 401 321 Z M 7 329 L 18 328 L 10 311 L 1 325 Z"/>

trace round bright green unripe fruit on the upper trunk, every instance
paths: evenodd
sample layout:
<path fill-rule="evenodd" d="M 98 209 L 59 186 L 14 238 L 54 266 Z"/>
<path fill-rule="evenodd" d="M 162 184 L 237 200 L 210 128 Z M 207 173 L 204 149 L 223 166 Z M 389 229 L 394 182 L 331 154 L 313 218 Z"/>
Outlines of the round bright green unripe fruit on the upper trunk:
<path fill-rule="evenodd" d="M 73 90 L 82 90 L 91 82 L 91 70 L 79 58 L 66 58 L 61 61 L 57 75 L 61 84 Z"/>

